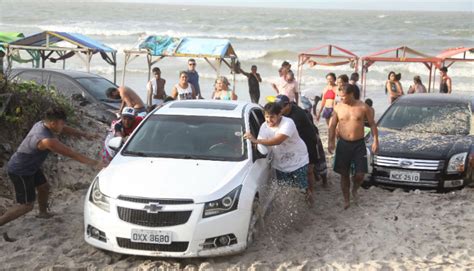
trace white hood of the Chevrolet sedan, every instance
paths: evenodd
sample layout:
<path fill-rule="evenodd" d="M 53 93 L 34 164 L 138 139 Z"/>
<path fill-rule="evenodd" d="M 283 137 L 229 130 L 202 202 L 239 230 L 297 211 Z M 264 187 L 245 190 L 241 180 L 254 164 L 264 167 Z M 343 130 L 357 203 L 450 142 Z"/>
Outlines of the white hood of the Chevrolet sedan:
<path fill-rule="evenodd" d="M 99 174 L 99 187 L 112 198 L 123 195 L 206 202 L 240 185 L 248 173 L 247 163 L 119 155 Z"/>

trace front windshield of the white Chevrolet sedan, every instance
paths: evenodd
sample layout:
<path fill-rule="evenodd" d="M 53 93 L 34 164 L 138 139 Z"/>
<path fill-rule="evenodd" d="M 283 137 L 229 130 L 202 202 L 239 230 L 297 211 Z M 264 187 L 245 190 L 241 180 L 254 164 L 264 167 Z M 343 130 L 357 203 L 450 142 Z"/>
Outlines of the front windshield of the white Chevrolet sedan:
<path fill-rule="evenodd" d="M 122 155 L 242 161 L 246 155 L 240 119 L 152 115 Z"/>

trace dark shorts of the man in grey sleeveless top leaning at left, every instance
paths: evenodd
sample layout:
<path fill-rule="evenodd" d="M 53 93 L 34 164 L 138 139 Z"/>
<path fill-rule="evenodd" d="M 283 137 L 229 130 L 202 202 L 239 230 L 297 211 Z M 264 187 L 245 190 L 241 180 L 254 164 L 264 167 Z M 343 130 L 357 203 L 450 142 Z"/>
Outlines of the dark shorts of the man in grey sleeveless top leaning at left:
<path fill-rule="evenodd" d="M 19 204 L 32 203 L 36 200 L 36 187 L 46 183 L 46 177 L 40 170 L 33 175 L 16 175 L 8 173 L 15 187 L 16 202 Z"/>

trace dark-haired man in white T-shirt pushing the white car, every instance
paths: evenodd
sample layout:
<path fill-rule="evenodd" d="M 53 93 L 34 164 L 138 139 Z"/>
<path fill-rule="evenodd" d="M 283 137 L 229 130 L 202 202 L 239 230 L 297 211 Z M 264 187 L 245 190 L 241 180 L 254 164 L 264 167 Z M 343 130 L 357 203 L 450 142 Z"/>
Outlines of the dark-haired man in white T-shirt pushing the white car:
<path fill-rule="evenodd" d="M 308 187 L 308 150 L 296 130 L 295 123 L 282 115 L 279 103 L 270 102 L 263 108 L 265 123 L 260 127 L 258 138 L 250 132 L 244 138 L 254 144 L 269 146 L 273 149 L 272 167 L 280 184 L 297 186 L 306 193 L 308 203 L 312 202 L 312 193 Z"/>

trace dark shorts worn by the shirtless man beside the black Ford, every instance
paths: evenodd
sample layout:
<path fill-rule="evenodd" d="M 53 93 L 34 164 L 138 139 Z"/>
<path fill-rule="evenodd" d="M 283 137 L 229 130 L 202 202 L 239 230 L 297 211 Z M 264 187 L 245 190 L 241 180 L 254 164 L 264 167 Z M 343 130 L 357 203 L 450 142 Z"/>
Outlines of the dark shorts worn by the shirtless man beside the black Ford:
<path fill-rule="evenodd" d="M 340 138 L 337 141 L 334 157 L 334 171 L 349 176 L 351 164 L 354 164 L 354 173 L 367 173 L 367 149 L 365 139 L 347 141 Z"/>

